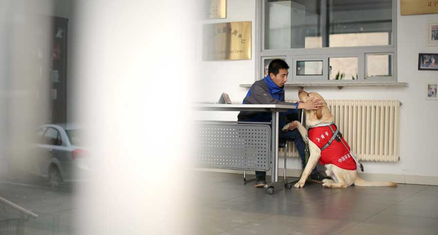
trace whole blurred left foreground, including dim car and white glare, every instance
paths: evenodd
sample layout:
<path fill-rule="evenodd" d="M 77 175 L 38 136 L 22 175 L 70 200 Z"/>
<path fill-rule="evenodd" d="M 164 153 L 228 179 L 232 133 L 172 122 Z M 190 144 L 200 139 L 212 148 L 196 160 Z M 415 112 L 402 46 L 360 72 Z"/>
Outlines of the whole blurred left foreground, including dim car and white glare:
<path fill-rule="evenodd" d="M 0 235 L 193 234 L 193 6 L 0 0 Z"/>

